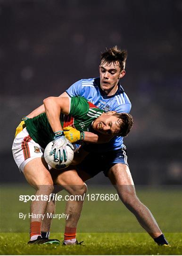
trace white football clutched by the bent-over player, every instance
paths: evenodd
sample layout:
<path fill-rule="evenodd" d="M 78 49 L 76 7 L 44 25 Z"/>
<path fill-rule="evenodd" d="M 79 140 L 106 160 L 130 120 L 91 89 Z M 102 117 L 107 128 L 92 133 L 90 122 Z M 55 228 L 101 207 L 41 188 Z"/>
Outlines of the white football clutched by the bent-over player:
<path fill-rule="evenodd" d="M 50 155 L 50 151 L 53 147 L 54 141 L 51 141 L 45 148 L 44 151 L 44 158 L 47 162 L 48 165 L 50 165 L 54 169 L 65 169 L 68 165 L 70 165 L 73 161 L 74 158 L 74 150 L 69 146 L 69 144 L 66 145 L 66 151 L 67 151 L 67 160 L 61 162 L 59 159 L 54 159 L 54 154 L 53 152 L 52 155 Z M 61 148 L 61 146 L 60 146 Z"/>

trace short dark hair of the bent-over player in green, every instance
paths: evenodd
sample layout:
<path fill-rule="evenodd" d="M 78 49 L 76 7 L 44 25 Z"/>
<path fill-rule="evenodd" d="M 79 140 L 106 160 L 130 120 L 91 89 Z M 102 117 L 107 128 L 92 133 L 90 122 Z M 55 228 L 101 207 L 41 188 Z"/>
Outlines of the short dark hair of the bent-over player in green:
<path fill-rule="evenodd" d="M 133 125 L 132 115 L 127 113 L 115 113 L 113 115 L 119 118 L 116 122 L 116 125 L 119 128 L 116 131 L 116 135 L 123 137 L 127 136 L 127 134 L 131 131 Z"/>

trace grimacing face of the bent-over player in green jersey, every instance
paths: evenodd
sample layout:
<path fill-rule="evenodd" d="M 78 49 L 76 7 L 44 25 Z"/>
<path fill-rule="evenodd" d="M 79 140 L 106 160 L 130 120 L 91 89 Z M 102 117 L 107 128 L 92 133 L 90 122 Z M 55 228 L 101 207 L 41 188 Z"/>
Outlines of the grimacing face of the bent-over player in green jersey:
<path fill-rule="evenodd" d="M 92 128 L 102 134 L 114 136 L 119 129 L 118 117 L 113 114 L 115 111 L 109 111 L 99 116 L 92 124 Z"/>

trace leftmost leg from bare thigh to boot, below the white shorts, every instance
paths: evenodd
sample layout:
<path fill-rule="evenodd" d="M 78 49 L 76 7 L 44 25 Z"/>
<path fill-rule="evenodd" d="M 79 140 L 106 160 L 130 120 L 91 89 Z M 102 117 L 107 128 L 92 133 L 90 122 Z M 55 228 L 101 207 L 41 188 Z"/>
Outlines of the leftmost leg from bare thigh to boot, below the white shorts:
<path fill-rule="evenodd" d="M 53 181 L 44 158 L 35 158 L 28 162 L 24 167 L 23 173 L 27 182 L 35 188 L 35 196 L 39 196 L 39 201 L 35 200 L 31 203 L 32 218 L 29 243 L 53 243 L 59 245 L 60 242 L 57 239 L 41 239 L 41 223 L 45 217 L 45 209 L 48 203 L 48 200 L 41 199 L 41 195 L 49 198 L 50 193 L 54 189 Z"/>

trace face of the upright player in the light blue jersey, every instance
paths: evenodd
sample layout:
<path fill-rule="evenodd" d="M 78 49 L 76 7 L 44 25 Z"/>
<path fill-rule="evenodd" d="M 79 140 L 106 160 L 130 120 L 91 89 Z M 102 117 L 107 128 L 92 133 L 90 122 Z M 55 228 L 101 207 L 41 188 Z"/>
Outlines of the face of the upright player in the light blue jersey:
<path fill-rule="evenodd" d="M 108 64 L 101 62 L 99 66 L 100 87 L 107 95 L 115 94 L 119 79 L 124 76 L 125 71 L 120 69 L 119 63 Z"/>

